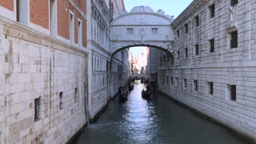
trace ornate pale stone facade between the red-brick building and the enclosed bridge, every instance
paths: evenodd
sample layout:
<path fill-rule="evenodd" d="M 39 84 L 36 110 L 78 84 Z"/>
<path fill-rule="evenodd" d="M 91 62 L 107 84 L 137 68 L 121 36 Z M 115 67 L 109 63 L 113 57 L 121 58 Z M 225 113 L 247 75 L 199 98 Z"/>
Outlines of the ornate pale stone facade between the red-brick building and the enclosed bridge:
<path fill-rule="evenodd" d="M 123 0 L 88 0 L 88 107 L 94 119 L 129 75 L 128 50 L 110 53 L 109 23 L 125 9 Z"/>

